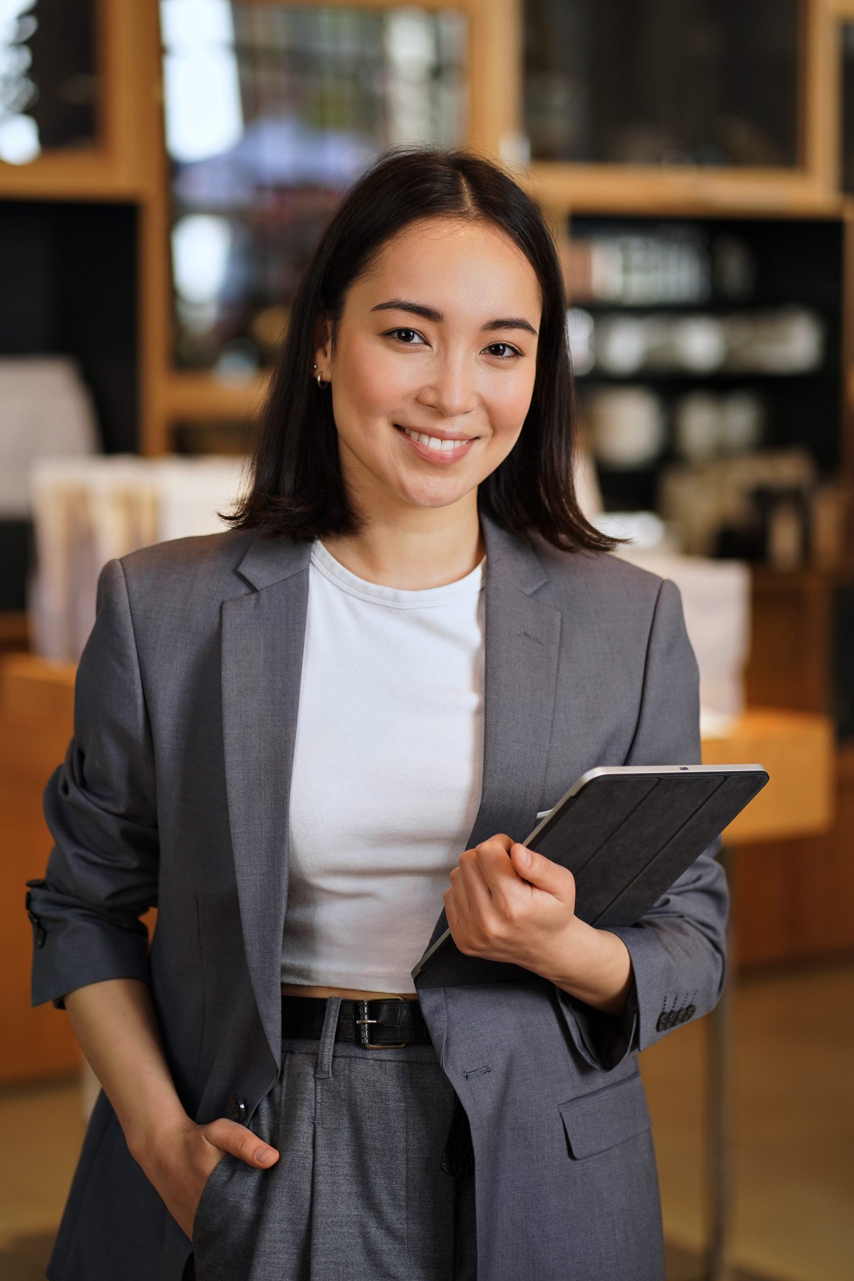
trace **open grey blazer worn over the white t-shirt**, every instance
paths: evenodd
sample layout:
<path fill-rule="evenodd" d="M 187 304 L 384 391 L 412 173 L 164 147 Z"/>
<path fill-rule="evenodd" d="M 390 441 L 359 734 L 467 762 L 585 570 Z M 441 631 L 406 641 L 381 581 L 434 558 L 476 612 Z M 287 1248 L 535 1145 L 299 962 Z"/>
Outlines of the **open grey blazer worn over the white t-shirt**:
<path fill-rule="evenodd" d="M 470 844 L 522 836 L 592 766 L 699 761 L 697 665 L 673 584 L 484 529 L 485 746 Z M 200 1122 L 242 1104 L 251 1123 L 279 1067 L 309 553 L 238 532 L 110 561 L 74 738 L 45 793 L 55 848 L 29 892 L 33 1002 L 61 1006 L 102 979 L 150 983 Z M 138 916 L 151 904 L 149 949 Z M 635 976 L 621 1020 L 533 976 L 421 993 L 471 1122 L 480 1281 L 663 1276 L 636 1052 L 717 1000 L 726 906 L 707 851 L 647 917 L 615 930 Z M 49 1277 L 179 1281 L 189 1252 L 101 1095 Z"/>

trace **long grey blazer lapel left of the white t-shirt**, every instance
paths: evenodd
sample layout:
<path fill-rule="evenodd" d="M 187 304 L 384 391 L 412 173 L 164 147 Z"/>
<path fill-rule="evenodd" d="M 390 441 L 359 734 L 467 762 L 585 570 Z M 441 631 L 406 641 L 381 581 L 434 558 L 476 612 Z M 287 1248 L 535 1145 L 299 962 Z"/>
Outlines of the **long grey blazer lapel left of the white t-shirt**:
<path fill-rule="evenodd" d="M 234 872 L 252 990 L 277 1062 L 310 555 L 310 543 L 256 539 L 239 565 L 256 591 L 223 602 L 223 737 Z"/>

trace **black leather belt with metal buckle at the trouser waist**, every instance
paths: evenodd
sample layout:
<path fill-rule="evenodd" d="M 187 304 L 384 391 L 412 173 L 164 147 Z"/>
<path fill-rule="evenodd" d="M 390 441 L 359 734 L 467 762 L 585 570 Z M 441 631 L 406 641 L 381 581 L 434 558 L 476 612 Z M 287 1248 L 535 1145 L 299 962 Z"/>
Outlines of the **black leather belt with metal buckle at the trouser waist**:
<path fill-rule="evenodd" d="M 326 1013 L 324 997 L 282 995 L 282 1035 L 319 1040 Z M 417 1000 L 379 998 L 344 1000 L 338 1011 L 335 1040 L 353 1041 L 365 1049 L 403 1049 L 429 1045 L 430 1034 Z"/>

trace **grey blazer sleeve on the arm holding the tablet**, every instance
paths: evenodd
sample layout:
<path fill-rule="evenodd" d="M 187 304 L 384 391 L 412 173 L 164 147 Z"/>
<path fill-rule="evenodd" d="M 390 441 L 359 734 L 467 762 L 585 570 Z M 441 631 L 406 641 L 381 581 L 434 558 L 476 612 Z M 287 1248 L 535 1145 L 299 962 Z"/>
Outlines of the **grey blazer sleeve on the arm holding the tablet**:
<path fill-rule="evenodd" d="M 697 661 L 679 588 L 663 582 L 649 633 L 640 712 L 625 763 L 699 761 Z M 609 926 L 631 957 L 632 986 L 622 1018 L 558 993 L 572 1039 L 593 1067 L 616 1067 L 627 1053 L 647 1049 L 717 1003 L 726 979 L 729 908 L 718 849 L 716 840 L 636 925 Z"/>

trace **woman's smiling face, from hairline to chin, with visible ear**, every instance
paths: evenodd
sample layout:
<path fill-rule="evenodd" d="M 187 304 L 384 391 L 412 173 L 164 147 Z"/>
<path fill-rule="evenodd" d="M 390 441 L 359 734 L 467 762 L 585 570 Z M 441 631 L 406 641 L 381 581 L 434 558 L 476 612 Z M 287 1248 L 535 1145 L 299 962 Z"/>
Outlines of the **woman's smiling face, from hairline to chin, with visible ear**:
<path fill-rule="evenodd" d="M 383 247 L 315 355 L 362 515 L 474 497 L 525 421 L 539 324 L 534 269 L 489 223 L 424 219 Z"/>

